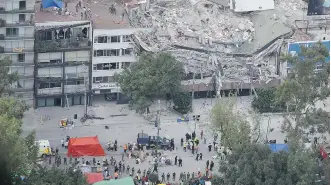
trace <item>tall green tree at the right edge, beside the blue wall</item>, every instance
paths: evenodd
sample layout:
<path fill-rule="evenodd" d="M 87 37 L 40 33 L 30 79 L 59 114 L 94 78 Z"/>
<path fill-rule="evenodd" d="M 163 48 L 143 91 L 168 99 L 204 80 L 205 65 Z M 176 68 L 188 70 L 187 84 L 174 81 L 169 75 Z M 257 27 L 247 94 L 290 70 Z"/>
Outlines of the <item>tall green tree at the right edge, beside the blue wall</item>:
<path fill-rule="evenodd" d="M 288 137 L 297 140 L 302 133 L 318 131 L 328 132 L 330 129 L 330 113 L 316 109 L 315 104 L 330 96 L 329 63 L 325 57 L 329 51 L 322 43 L 310 48 L 301 47 L 298 56 L 286 55 L 282 59 L 293 65 L 293 72 L 276 91 L 277 102 L 286 102 L 292 113 L 285 115 L 282 129 Z M 316 71 L 316 66 L 319 70 Z"/>

